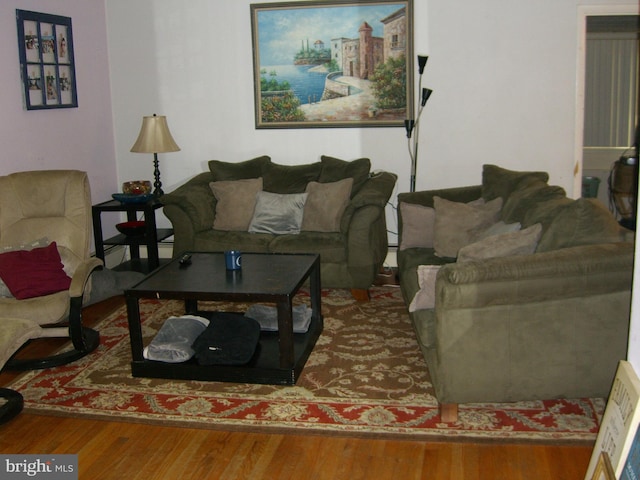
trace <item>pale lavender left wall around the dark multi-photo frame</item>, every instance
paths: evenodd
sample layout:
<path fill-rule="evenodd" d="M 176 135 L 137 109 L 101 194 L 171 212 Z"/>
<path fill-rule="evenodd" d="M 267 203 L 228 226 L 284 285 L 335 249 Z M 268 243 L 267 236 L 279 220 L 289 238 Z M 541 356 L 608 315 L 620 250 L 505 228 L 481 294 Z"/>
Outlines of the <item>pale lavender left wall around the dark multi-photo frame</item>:
<path fill-rule="evenodd" d="M 16 8 L 71 17 L 78 108 L 23 108 Z M 0 175 L 22 170 L 84 170 L 94 201 L 110 198 L 117 180 L 104 2 L 0 2 L 0 42 Z"/>

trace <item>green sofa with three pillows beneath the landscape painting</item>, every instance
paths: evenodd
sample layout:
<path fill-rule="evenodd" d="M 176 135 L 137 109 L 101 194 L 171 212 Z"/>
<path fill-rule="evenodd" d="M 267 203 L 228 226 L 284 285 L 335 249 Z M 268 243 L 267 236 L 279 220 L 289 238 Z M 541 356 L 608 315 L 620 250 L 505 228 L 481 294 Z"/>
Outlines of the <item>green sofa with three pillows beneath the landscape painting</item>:
<path fill-rule="evenodd" d="M 328 156 L 293 166 L 278 165 L 268 156 L 239 163 L 212 160 L 209 172 L 162 197 L 174 228 L 173 254 L 230 249 L 319 253 L 322 286 L 349 288 L 364 298 L 387 255 L 385 206 L 396 183 L 395 175 L 372 174 L 370 166 L 365 158 Z M 259 211 L 261 219 L 273 213 L 262 208 L 268 202 L 299 200 L 305 193 L 301 231 L 288 233 L 280 224 L 256 227 Z M 293 208 L 285 220 L 299 211 Z M 253 232 L 248 231 L 249 220 L 249 228 L 256 227 Z"/>

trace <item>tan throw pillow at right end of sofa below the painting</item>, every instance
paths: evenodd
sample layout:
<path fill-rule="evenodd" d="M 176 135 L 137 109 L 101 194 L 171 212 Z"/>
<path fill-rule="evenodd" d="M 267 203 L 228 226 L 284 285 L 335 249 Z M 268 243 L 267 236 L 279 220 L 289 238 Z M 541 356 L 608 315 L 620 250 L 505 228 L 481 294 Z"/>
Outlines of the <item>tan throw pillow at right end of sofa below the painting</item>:
<path fill-rule="evenodd" d="M 339 232 L 342 214 L 351 197 L 353 178 L 337 182 L 309 182 L 304 204 L 302 230 L 307 232 Z"/>

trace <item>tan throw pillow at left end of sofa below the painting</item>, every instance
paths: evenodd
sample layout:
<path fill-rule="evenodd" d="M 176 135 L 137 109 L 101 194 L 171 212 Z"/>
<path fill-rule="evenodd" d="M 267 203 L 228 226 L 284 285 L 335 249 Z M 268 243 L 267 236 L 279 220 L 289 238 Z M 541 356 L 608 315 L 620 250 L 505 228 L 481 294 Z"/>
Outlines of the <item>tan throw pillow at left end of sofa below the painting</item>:
<path fill-rule="evenodd" d="M 214 230 L 246 232 L 256 207 L 256 195 L 262 191 L 262 178 L 224 180 L 209 186 L 218 201 Z"/>

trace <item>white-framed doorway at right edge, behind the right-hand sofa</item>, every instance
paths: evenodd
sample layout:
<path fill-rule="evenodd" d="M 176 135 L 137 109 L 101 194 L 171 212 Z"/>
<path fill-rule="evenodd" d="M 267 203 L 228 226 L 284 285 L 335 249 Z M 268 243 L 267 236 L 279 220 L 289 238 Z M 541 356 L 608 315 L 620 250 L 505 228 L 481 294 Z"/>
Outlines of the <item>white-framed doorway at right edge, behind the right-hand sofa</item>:
<path fill-rule="evenodd" d="M 639 14 L 633 5 L 579 8 L 574 192 L 584 176 L 599 178 L 597 197 L 607 206 L 611 168 L 635 143 Z M 626 85 L 612 82 L 612 71 Z"/>

